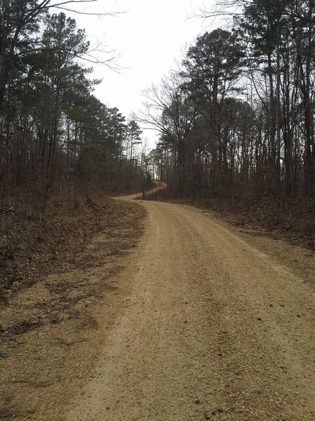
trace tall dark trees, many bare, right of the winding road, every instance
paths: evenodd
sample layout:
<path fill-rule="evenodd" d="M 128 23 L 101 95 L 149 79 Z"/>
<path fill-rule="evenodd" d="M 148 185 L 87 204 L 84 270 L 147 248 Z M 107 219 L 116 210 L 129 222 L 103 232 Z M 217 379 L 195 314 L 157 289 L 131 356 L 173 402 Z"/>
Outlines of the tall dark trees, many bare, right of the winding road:
<path fill-rule="evenodd" d="M 174 196 L 314 197 L 314 1 L 237 4 L 146 93 L 156 171 Z"/>

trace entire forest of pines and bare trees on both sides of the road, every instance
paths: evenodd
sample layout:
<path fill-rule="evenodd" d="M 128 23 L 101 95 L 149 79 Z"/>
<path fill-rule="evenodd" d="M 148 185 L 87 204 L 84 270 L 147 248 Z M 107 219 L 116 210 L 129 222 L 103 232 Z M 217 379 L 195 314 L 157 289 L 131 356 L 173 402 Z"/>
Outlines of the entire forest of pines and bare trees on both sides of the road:
<path fill-rule="evenodd" d="M 231 5 L 230 29 L 198 36 L 126 121 L 93 95 L 100 81 L 73 18 L 51 1 L 2 1 L 1 200 L 152 177 L 173 198 L 314 199 L 314 1 Z M 137 147 L 141 124 L 160 131 L 150 154 Z"/>

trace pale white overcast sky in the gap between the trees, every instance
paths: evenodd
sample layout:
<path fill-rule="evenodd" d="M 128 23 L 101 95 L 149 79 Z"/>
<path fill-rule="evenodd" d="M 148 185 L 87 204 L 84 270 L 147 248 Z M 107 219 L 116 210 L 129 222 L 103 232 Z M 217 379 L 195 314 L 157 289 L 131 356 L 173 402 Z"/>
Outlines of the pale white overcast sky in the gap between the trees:
<path fill-rule="evenodd" d="M 87 12 L 125 11 L 117 17 L 73 15 L 78 28 L 85 28 L 94 45 L 103 41 L 107 50 L 120 55 L 116 62 L 123 67 L 119 73 L 108 67 L 93 65 L 93 76 L 103 79 L 94 95 L 104 104 L 117 107 L 130 117 L 141 108 L 141 92 L 158 84 L 175 60 L 181 61 L 186 46 L 213 24 L 202 19 L 188 19 L 200 8 L 211 8 L 214 0 L 98 0 L 85 6 Z M 151 147 L 157 140 L 155 131 L 145 130 Z"/>

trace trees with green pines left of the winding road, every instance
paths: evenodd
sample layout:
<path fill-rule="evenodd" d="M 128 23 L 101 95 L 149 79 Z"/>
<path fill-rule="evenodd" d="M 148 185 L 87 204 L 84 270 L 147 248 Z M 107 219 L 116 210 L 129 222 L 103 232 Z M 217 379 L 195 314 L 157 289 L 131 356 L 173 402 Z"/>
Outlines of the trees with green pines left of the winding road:
<path fill-rule="evenodd" d="M 109 191 L 145 176 L 137 122 L 94 97 L 85 32 L 49 6 L 0 4 L 1 199 L 27 192 L 45 203 L 66 183 Z"/>

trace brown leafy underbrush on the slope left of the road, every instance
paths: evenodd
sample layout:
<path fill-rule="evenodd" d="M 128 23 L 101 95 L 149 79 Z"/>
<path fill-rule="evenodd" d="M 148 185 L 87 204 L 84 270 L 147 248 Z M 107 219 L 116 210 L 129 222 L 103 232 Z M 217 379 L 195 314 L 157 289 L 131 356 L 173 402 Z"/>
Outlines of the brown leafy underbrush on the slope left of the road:
<path fill-rule="evenodd" d="M 77 255 L 87 240 L 116 225 L 134 226 L 141 211 L 130 215 L 130 206 L 113 201 L 100 190 L 88 194 L 65 191 L 45 207 L 25 197 L 10 198 L 0 208 L 0 305 L 10 296 L 34 285 L 65 265 L 84 264 Z M 122 225 L 122 226 L 123 226 Z M 136 224 L 137 225 L 137 224 Z M 89 256 L 92 265 L 93 256 Z"/>

